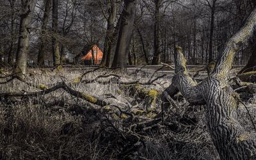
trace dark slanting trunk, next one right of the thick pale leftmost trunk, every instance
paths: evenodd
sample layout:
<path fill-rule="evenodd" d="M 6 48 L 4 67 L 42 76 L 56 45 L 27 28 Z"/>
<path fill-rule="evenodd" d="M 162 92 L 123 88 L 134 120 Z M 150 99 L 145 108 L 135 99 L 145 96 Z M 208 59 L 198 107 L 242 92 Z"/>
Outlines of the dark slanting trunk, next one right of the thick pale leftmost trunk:
<path fill-rule="evenodd" d="M 38 58 L 37 58 L 37 64 L 42 67 L 44 65 L 44 59 L 45 59 L 45 47 L 47 45 L 47 42 L 45 40 L 45 31 L 47 29 L 47 23 L 49 20 L 49 14 L 51 10 L 51 0 L 45 0 L 44 4 L 44 17 L 43 17 L 43 22 L 42 22 L 42 28 L 41 28 L 41 44 L 40 44 L 40 49 L 38 53 Z"/>

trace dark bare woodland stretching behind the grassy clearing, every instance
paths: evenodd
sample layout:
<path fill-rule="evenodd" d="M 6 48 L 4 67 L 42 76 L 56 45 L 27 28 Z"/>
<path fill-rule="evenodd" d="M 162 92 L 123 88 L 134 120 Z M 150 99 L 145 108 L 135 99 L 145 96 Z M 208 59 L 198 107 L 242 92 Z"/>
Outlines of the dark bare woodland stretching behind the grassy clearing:
<path fill-rule="evenodd" d="M 189 64 L 208 64 L 254 7 L 253 0 L 4 0 L 0 61 L 26 73 L 28 61 L 61 65 L 97 44 L 102 66 L 159 65 L 180 45 Z M 247 45 L 234 63 L 250 71 L 256 41 Z"/>

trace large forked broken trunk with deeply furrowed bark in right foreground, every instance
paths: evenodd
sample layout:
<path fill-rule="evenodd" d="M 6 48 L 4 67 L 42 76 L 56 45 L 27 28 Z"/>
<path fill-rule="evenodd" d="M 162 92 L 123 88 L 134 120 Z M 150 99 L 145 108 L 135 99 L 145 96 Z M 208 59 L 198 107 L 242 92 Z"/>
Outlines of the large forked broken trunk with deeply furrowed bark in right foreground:
<path fill-rule="evenodd" d="M 181 48 L 175 54 L 175 76 L 172 85 L 177 87 L 188 102 L 206 104 L 206 120 L 212 141 L 221 159 L 255 159 L 255 133 L 246 132 L 237 120 L 239 97 L 227 84 L 228 72 L 234 54 L 246 42 L 256 28 L 256 8 L 244 26 L 227 42 L 218 56 L 212 74 L 196 84 L 186 70 L 186 60 Z"/>

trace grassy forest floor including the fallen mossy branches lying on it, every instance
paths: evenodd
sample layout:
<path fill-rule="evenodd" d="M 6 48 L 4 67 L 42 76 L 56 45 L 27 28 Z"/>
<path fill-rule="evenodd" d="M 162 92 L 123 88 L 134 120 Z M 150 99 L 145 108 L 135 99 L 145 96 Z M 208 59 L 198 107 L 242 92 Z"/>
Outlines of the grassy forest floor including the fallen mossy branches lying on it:
<path fill-rule="evenodd" d="M 194 74 L 202 67 L 188 68 Z M 26 83 L 14 79 L 0 84 L 0 159 L 219 159 L 204 106 L 189 106 L 178 93 L 175 104 L 161 114 L 161 92 L 173 76 L 170 68 L 28 71 Z M 196 79 L 205 76 L 206 70 Z M 72 92 L 65 86 L 52 90 L 60 83 Z M 256 122 L 256 95 L 246 106 Z M 237 113 L 252 131 L 244 106 Z"/>

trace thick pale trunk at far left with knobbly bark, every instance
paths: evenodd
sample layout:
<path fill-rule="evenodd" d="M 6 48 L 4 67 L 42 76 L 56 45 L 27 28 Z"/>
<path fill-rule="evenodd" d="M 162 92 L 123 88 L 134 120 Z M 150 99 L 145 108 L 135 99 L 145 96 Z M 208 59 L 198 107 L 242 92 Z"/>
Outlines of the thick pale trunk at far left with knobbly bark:
<path fill-rule="evenodd" d="M 20 29 L 18 49 L 13 74 L 22 77 L 26 74 L 27 58 L 29 49 L 29 29 L 31 26 L 31 16 L 35 10 L 36 0 L 22 0 L 22 13 L 20 14 Z"/>

